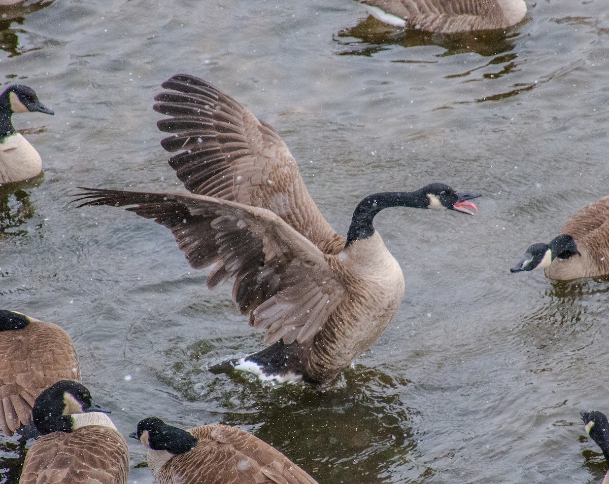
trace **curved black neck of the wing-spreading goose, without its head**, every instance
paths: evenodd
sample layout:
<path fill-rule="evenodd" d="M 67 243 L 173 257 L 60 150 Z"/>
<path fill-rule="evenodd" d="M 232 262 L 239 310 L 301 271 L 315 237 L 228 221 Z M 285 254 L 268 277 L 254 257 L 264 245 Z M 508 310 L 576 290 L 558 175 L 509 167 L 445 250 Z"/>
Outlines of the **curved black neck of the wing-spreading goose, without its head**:
<path fill-rule="evenodd" d="M 388 209 L 389 207 L 426 209 L 428 206 L 429 198 L 421 190 L 416 192 L 382 192 L 368 195 L 355 207 L 347 233 L 345 248 L 356 240 L 374 235 L 375 227 L 372 221 L 381 210 Z"/>

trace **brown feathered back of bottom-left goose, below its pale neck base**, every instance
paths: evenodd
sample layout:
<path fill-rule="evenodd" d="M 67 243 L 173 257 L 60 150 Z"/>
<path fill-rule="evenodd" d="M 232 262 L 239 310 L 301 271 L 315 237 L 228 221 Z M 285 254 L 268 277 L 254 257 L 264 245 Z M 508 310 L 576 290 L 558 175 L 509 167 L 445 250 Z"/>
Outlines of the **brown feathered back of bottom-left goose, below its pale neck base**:
<path fill-rule="evenodd" d="M 40 437 L 26 454 L 20 484 L 124 484 L 127 442 L 114 429 L 86 426 Z"/>

